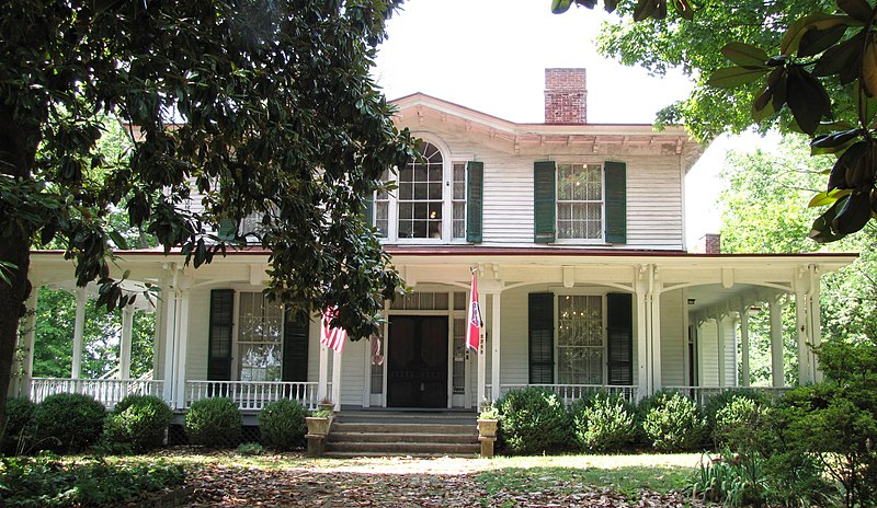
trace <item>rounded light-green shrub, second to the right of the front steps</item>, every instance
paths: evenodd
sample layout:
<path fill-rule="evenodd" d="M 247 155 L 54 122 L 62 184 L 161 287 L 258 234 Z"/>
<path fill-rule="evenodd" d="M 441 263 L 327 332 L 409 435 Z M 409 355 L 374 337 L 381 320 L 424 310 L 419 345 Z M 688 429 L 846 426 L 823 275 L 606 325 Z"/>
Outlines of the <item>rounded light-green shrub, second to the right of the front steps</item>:
<path fill-rule="evenodd" d="M 585 451 L 620 451 L 636 439 L 634 408 L 620 395 L 600 393 L 571 408 L 576 440 Z"/>

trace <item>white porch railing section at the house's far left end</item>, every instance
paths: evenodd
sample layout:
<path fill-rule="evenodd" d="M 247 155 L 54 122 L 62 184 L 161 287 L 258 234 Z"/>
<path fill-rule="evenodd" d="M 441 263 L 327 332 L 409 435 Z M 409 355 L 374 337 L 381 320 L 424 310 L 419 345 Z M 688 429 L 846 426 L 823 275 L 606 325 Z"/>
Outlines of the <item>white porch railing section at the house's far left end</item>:
<path fill-rule="evenodd" d="M 128 395 L 161 396 L 163 385 L 163 381 L 152 379 L 33 378 L 31 400 L 38 404 L 56 393 L 81 393 L 112 409 Z"/>

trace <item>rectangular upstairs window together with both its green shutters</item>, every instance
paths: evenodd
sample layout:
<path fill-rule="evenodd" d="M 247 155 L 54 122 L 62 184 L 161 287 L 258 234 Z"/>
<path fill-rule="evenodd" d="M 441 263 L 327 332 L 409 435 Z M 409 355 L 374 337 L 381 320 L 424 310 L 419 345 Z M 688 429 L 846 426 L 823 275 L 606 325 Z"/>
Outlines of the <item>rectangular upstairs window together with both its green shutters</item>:
<path fill-rule="evenodd" d="M 533 166 L 533 241 L 627 243 L 627 169 L 623 162 Z"/>

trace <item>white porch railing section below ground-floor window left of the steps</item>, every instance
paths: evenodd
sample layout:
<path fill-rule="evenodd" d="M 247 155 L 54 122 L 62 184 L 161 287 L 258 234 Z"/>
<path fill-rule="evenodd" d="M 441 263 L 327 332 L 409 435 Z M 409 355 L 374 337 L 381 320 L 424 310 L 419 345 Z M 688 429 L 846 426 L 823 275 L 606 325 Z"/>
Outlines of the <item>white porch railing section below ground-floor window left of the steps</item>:
<path fill-rule="evenodd" d="M 231 399 L 240 409 L 260 411 L 265 404 L 281 399 L 300 402 L 308 409 L 316 409 L 316 382 L 286 381 L 186 381 L 185 407 L 202 399 L 224 396 Z M 332 393 L 331 383 L 328 392 Z"/>

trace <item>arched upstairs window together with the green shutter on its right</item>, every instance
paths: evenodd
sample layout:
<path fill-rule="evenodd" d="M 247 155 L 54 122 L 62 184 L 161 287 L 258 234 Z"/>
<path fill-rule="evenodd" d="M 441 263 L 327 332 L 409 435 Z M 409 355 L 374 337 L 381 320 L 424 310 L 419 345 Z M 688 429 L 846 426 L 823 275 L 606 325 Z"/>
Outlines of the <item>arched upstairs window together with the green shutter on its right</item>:
<path fill-rule="evenodd" d="M 375 195 L 378 235 L 390 241 L 480 242 L 483 165 L 449 161 L 430 142 L 423 143 L 421 153 L 423 159 L 399 169 L 395 190 Z M 383 178 L 394 180 L 389 171 Z"/>

